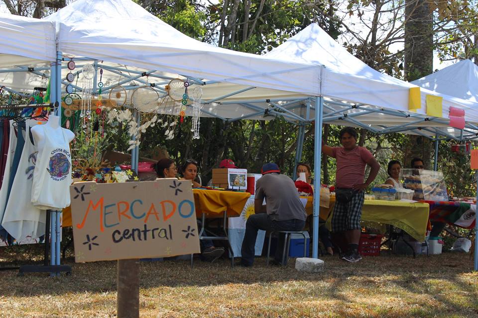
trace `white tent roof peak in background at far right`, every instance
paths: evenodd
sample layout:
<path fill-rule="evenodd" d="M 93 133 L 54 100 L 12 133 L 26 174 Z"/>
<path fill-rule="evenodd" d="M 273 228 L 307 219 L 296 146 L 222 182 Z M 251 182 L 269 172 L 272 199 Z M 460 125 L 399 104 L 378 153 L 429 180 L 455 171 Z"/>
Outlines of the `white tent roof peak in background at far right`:
<path fill-rule="evenodd" d="M 470 60 L 452 64 L 440 71 L 412 81 L 413 84 L 442 94 L 456 96 L 478 108 L 478 66 Z"/>

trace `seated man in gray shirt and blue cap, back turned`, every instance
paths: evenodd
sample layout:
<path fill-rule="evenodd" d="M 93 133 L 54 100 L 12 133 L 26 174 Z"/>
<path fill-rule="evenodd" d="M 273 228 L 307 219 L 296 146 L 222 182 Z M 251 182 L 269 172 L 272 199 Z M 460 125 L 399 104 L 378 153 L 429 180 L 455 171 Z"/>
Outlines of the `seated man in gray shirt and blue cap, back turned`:
<path fill-rule="evenodd" d="M 254 246 L 257 231 L 302 231 L 305 226 L 304 206 L 300 202 L 299 192 L 294 181 L 284 174 L 280 174 L 275 163 L 266 163 L 262 166 L 262 177 L 255 186 L 254 209 L 247 219 L 245 235 L 241 247 L 240 266 L 252 266 L 254 263 Z M 262 205 L 264 201 L 266 205 Z M 264 213 L 266 212 L 266 213 Z M 284 237 L 279 238 L 275 252 L 275 260 L 282 262 Z"/>

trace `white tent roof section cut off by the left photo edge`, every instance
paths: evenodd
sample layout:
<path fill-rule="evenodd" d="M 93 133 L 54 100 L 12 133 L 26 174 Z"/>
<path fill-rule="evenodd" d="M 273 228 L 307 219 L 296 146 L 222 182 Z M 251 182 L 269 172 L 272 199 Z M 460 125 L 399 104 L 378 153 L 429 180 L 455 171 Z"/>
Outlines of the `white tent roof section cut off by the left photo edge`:
<path fill-rule="evenodd" d="M 0 13 L 0 67 L 55 61 L 55 24 Z"/>

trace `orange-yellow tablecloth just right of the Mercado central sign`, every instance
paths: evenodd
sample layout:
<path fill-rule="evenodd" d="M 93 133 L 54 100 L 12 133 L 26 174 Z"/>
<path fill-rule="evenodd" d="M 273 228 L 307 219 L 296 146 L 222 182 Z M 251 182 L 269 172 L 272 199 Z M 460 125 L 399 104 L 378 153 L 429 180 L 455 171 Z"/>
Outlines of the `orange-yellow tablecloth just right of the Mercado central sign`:
<path fill-rule="evenodd" d="M 206 217 L 217 217 L 217 214 L 222 214 L 224 211 L 227 211 L 228 216 L 237 217 L 250 197 L 248 192 L 205 189 L 193 189 L 193 194 L 198 217 L 202 213 L 205 213 Z"/>

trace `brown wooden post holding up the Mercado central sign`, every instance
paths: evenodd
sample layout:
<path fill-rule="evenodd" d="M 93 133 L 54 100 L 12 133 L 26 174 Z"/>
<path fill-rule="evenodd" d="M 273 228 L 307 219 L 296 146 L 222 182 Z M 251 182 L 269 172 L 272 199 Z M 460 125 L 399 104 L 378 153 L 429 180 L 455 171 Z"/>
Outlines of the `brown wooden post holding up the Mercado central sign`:
<path fill-rule="evenodd" d="M 117 317 L 139 318 L 139 261 L 118 260 Z"/>

